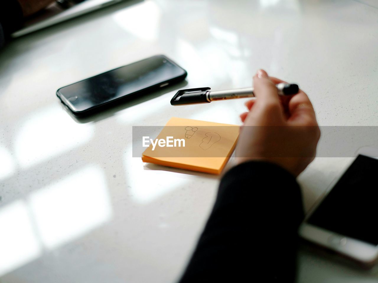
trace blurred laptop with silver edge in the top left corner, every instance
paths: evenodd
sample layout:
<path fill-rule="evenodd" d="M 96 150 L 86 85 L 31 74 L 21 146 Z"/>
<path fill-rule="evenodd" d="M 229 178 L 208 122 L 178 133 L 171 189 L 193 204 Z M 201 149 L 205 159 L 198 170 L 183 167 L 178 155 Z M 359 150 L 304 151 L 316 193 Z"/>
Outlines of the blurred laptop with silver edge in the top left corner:
<path fill-rule="evenodd" d="M 11 36 L 19 37 L 121 1 L 125 0 L 58 0 L 26 19 L 23 27 Z"/>

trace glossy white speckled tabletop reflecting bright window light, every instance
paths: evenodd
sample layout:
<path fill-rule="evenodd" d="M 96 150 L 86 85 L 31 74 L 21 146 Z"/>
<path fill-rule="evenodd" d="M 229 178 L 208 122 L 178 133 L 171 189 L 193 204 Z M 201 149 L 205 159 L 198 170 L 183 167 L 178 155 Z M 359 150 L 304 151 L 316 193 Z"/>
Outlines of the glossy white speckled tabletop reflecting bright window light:
<path fill-rule="evenodd" d="M 298 82 L 322 126 L 377 126 L 377 19 L 373 0 L 129 1 L 11 42 L 0 51 L 0 282 L 175 282 L 219 177 L 132 158 L 132 126 L 240 125 L 244 100 L 169 100 L 250 86 L 258 68 Z M 155 54 L 183 66 L 187 84 L 84 121 L 55 95 Z M 306 211 L 349 160 L 316 158 L 299 176 Z M 377 268 L 317 250 L 302 246 L 298 282 L 378 281 Z"/>

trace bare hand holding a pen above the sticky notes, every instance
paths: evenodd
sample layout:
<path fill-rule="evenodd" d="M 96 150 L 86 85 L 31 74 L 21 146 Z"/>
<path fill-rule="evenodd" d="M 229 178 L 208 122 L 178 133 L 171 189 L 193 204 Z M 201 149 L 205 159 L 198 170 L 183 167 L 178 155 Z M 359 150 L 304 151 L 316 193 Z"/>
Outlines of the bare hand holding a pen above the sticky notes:
<path fill-rule="evenodd" d="M 320 129 L 307 95 L 299 90 L 279 97 L 281 82 L 263 70 L 253 77 L 256 100 L 246 102 L 249 112 L 240 115 L 236 162 L 269 161 L 297 176 L 315 157 Z"/>

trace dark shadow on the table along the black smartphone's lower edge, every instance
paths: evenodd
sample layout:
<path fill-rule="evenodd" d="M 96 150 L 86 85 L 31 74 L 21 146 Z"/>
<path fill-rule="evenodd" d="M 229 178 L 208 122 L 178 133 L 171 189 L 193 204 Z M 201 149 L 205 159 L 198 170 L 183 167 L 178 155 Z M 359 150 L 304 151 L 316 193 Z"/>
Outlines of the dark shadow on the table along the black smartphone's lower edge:
<path fill-rule="evenodd" d="M 180 88 L 184 88 L 184 86 L 187 85 L 187 81 L 183 81 L 180 83 L 177 83 L 175 85 L 169 86 L 167 88 L 161 89 L 159 91 L 154 91 L 149 94 L 143 94 L 141 97 L 138 98 L 132 98 L 131 100 L 120 102 L 118 105 L 110 105 L 106 106 L 106 108 L 102 108 L 102 110 L 99 110 L 97 113 L 93 113 L 91 115 L 85 116 L 85 117 L 77 117 L 65 106 L 63 103 L 61 103 L 62 108 L 65 109 L 65 111 L 75 120 L 77 123 L 89 123 L 89 122 L 96 122 L 108 117 L 111 117 L 116 114 L 116 112 L 121 111 L 123 109 L 127 109 L 129 107 L 138 105 L 139 103 L 146 102 L 147 100 L 159 97 L 163 94 L 167 94 L 168 92 L 175 91 Z M 172 94 L 173 97 L 173 94 Z M 167 100 L 167 103 L 169 103 L 170 100 Z"/>

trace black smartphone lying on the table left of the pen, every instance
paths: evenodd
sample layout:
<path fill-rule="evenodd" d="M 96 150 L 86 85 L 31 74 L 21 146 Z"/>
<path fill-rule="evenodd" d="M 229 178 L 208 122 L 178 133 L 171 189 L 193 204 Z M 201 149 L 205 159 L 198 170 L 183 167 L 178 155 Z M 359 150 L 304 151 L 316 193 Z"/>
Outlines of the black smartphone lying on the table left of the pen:
<path fill-rule="evenodd" d="M 178 83 L 186 75 L 175 62 L 156 55 L 64 86 L 56 95 L 73 114 L 84 116 Z"/>

